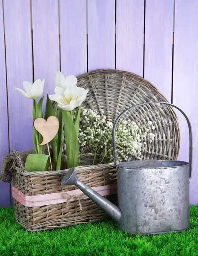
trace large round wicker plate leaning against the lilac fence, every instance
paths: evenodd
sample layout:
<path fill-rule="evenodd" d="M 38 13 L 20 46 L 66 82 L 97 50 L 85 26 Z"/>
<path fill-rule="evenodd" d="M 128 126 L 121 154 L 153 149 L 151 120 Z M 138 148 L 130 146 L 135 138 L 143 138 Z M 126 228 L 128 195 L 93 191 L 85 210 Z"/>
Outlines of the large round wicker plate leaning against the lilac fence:
<path fill-rule="evenodd" d="M 108 121 L 126 108 L 142 102 L 168 102 L 149 81 L 121 70 L 93 70 L 77 77 L 77 86 L 89 89 L 84 108 L 103 113 Z M 141 124 L 152 121 L 155 140 L 143 139 L 145 149 L 138 159 L 176 160 L 180 145 L 178 119 L 168 105 L 143 105 L 126 113 L 126 118 Z M 144 141 L 145 140 L 145 141 Z M 65 149 L 64 149 L 65 150 Z M 135 157 L 132 157 L 135 159 Z"/>

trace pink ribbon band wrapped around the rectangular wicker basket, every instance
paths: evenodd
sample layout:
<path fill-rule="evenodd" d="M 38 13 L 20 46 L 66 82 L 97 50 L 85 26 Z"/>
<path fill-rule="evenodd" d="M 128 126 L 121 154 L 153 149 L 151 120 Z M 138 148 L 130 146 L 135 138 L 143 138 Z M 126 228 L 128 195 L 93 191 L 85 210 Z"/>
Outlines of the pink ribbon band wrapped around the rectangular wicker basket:
<path fill-rule="evenodd" d="M 117 194 L 117 183 L 105 186 L 92 187 L 93 190 L 98 192 L 100 195 L 115 195 Z M 67 195 L 67 198 L 64 197 L 64 194 Z M 68 198 L 71 195 L 71 198 Z M 76 198 L 73 196 L 76 195 Z M 79 196 L 84 195 L 80 189 L 75 189 L 67 192 L 58 192 L 46 195 L 25 195 L 12 186 L 12 196 L 15 198 L 20 204 L 23 204 L 27 207 L 37 207 L 44 206 L 49 204 L 60 204 L 69 201 L 79 200 Z M 88 198 L 86 195 L 83 199 Z M 82 199 L 82 198 L 80 198 Z"/>

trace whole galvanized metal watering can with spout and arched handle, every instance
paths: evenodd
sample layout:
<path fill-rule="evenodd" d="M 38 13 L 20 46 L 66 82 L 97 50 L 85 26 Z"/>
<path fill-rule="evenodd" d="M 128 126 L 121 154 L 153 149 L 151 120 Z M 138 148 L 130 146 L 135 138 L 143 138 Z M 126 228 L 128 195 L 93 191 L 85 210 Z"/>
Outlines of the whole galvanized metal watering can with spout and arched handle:
<path fill-rule="evenodd" d="M 161 103 L 177 108 L 189 128 L 189 163 L 173 160 L 135 160 L 118 163 L 115 128 L 121 116 L 132 108 Z M 166 102 L 145 102 L 132 106 L 115 120 L 112 131 L 114 163 L 118 170 L 118 207 L 77 179 L 75 168 L 61 185 L 75 185 L 98 204 L 128 233 L 158 234 L 189 229 L 189 179 L 192 177 L 192 128 L 180 108 Z"/>

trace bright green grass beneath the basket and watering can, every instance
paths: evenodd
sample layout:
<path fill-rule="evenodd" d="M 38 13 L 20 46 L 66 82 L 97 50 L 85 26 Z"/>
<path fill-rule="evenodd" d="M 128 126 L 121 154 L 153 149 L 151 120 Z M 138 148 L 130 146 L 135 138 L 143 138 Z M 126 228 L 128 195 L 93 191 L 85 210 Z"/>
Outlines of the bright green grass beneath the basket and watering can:
<path fill-rule="evenodd" d="M 130 235 L 111 220 L 29 233 L 0 207 L 0 256 L 183 255 L 198 256 L 198 205 L 190 207 L 190 230 L 160 235 Z"/>

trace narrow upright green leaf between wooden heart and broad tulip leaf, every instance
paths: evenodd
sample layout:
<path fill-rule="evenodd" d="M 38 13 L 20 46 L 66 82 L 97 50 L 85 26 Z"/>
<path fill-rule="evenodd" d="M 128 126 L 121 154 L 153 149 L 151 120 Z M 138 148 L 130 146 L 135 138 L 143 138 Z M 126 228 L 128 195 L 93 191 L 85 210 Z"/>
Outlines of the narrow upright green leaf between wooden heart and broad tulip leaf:
<path fill-rule="evenodd" d="M 59 129 L 57 133 L 57 163 L 56 163 L 56 170 L 60 170 L 61 165 L 61 156 L 62 156 L 62 149 L 63 149 L 63 114 L 62 109 L 59 109 L 57 119 L 59 121 Z"/>

